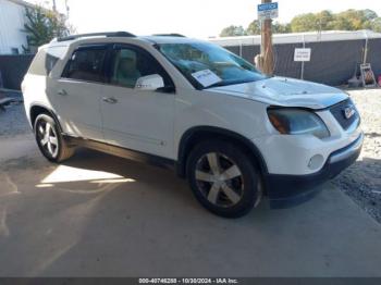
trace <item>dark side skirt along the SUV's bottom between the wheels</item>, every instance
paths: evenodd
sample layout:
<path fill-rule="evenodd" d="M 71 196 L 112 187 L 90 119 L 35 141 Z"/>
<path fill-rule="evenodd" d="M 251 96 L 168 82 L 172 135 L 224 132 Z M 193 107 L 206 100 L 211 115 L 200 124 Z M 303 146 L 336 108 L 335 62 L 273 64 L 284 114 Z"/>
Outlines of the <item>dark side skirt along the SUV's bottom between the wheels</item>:
<path fill-rule="evenodd" d="M 151 164 L 155 166 L 160 166 L 164 169 L 170 169 L 170 170 L 175 170 L 176 168 L 176 161 L 132 150 L 132 149 L 126 149 L 122 147 L 116 147 L 113 145 L 96 141 L 93 139 L 85 139 L 81 137 L 72 137 L 67 135 L 63 135 L 63 138 L 70 146 L 78 146 L 78 147 L 84 147 L 84 148 L 89 148 L 94 149 L 97 151 L 101 151 L 105 153 L 109 153 L 111 156 L 120 157 L 120 158 L 125 158 L 147 164 Z"/>

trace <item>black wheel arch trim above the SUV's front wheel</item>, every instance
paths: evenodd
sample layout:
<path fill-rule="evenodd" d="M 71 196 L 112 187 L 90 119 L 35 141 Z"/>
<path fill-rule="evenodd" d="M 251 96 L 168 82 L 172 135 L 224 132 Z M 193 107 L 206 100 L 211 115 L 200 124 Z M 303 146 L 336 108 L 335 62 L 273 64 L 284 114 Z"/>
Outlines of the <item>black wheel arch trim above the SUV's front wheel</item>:
<path fill-rule="evenodd" d="M 258 166 L 262 175 L 268 173 L 267 164 L 261 152 L 248 138 L 244 137 L 241 134 L 221 127 L 197 126 L 186 131 L 180 140 L 176 165 L 176 172 L 179 176 L 186 176 L 186 161 L 192 149 L 198 142 L 207 139 L 221 139 L 238 145 L 239 148 L 248 151 L 251 160 L 256 163 L 256 166 Z"/>

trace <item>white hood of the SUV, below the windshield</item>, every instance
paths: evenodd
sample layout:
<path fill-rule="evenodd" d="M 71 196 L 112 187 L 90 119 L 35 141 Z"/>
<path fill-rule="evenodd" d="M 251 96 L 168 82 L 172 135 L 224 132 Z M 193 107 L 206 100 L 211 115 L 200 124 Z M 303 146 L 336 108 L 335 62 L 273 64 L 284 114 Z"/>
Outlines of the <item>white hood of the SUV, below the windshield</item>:
<path fill-rule="evenodd" d="M 271 77 L 265 80 L 221 86 L 208 89 L 271 106 L 323 109 L 345 100 L 340 89 L 293 78 Z"/>

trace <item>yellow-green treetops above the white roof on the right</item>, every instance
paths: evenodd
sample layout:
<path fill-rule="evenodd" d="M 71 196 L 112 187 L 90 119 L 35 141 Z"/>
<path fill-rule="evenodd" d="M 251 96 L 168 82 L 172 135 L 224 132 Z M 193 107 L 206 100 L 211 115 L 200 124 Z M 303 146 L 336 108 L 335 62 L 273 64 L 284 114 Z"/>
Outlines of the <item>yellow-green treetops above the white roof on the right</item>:
<path fill-rule="evenodd" d="M 324 10 L 319 13 L 308 13 L 295 16 L 291 23 L 281 24 L 273 22 L 273 34 L 316 32 L 316 30 L 358 30 L 371 29 L 381 33 L 381 17 L 369 9 L 366 10 L 347 10 L 341 13 L 332 13 Z M 229 26 L 224 28 L 220 36 L 244 36 L 260 35 L 260 22 L 253 21 L 247 29 L 242 26 Z"/>

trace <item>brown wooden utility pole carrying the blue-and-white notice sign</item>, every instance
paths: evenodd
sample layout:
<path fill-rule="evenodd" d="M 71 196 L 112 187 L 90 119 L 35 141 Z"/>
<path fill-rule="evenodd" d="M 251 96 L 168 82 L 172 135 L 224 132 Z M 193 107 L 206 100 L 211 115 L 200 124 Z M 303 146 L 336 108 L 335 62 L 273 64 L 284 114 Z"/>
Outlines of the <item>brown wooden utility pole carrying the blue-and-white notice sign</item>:
<path fill-rule="evenodd" d="M 262 3 L 271 3 L 272 0 L 261 0 Z M 272 20 L 261 21 L 261 46 L 260 57 L 258 59 L 259 69 L 267 75 L 274 72 L 274 54 L 272 49 Z"/>

